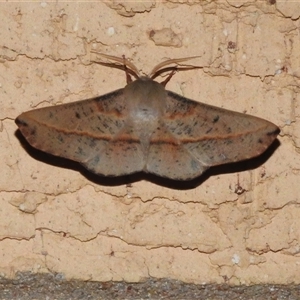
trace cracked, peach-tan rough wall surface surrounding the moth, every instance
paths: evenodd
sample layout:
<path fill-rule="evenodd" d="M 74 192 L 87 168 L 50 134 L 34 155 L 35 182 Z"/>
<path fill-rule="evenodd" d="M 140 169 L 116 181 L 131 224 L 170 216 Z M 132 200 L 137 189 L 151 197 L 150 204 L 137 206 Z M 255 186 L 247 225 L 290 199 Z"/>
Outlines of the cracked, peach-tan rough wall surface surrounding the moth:
<path fill-rule="evenodd" d="M 0 273 L 82 280 L 300 283 L 300 6 L 288 1 L 1 3 Z M 168 58 L 167 88 L 281 128 L 261 158 L 189 184 L 105 179 L 29 147 L 14 119 L 121 88 Z M 95 55 L 94 55 L 95 56 Z M 239 147 L 239 145 L 236 145 Z"/>

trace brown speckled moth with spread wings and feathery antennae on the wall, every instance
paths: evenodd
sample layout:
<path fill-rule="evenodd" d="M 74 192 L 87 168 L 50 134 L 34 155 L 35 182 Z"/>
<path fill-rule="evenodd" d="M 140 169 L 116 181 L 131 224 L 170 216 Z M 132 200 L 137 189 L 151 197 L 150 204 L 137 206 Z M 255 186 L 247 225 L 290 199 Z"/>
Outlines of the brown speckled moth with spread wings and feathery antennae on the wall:
<path fill-rule="evenodd" d="M 125 58 L 102 56 L 115 62 L 102 64 L 126 71 L 128 84 L 103 96 L 22 113 L 16 124 L 31 146 L 99 175 L 144 171 L 189 180 L 211 166 L 260 155 L 280 132 L 269 121 L 166 90 L 177 68 L 165 66 L 186 59 L 165 61 L 148 77 Z M 163 83 L 153 80 L 170 70 Z"/>

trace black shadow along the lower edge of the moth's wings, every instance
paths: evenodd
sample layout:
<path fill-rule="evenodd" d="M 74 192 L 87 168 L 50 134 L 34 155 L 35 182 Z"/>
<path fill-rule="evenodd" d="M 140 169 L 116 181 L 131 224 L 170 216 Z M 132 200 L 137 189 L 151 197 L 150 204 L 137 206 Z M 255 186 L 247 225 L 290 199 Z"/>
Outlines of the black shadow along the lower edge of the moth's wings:
<path fill-rule="evenodd" d="M 29 143 L 26 141 L 26 139 L 23 137 L 23 135 L 19 130 L 16 131 L 16 136 L 20 140 L 23 148 L 27 151 L 27 153 L 32 158 L 55 167 L 60 167 L 60 168 L 65 168 L 65 169 L 70 169 L 70 170 L 80 172 L 88 180 L 96 184 L 104 185 L 104 186 L 119 186 L 124 184 L 132 184 L 140 180 L 147 180 L 157 185 L 172 188 L 172 189 L 177 189 L 177 190 L 193 189 L 201 185 L 211 176 L 228 174 L 228 173 L 237 173 L 237 172 L 243 172 L 243 171 L 255 169 L 261 166 L 262 164 L 264 164 L 270 158 L 270 156 L 272 156 L 272 154 L 280 145 L 280 142 L 276 139 L 273 142 L 273 144 L 262 155 L 258 157 L 237 162 L 237 163 L 230 163 L 230 164 L 212 167 L 208 169 L 204 174 L 202 174 L 201 176 L 195 179 L 188 180 L 188 181 L 179 181 L 179 180 L 172 180 L 168 178 L 155 176 L 152 174 L 147 174 L 144 172 L 139 172 L 139 173 L 125 175 L 125 176 L 118 176 L 118 177 L 106 177 L 106 176 L 96 175 L 94 173 L 89 172 L 80 163 L 77 163 L 69 159 L 57 157 L 33 148 L 32 146 L 29 145 Z"/>

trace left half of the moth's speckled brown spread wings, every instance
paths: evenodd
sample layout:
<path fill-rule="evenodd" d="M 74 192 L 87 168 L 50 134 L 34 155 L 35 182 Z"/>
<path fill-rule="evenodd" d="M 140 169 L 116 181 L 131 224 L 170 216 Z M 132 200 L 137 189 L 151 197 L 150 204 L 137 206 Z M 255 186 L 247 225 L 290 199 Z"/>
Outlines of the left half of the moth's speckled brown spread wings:
<path fill-rule="evenodd" d="M 35 109 L 16 119 L 29 144 L 107 176 L 141 171 L 143 153 L 130 131 L 123 89 L 93 99 Z"/>

